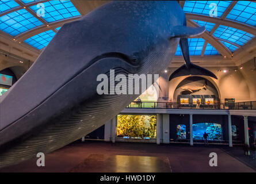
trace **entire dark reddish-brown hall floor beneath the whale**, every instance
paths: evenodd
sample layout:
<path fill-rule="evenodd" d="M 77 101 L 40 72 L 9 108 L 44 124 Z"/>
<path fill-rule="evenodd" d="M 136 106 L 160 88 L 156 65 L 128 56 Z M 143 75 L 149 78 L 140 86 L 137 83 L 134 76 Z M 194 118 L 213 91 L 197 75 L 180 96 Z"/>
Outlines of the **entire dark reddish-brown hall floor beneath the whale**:
<path fill-rule="evenodd" d="M 209 166 L 211 152 L 217 167 Z M 35 158 L 0 172 L 256 172 L 243 157 L 242 148 L 78 141 L 45 155 L 45 167 Z"/>

